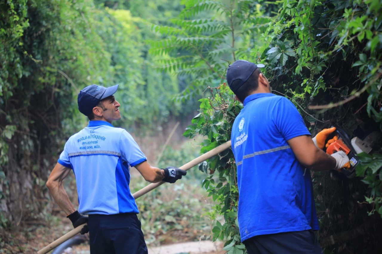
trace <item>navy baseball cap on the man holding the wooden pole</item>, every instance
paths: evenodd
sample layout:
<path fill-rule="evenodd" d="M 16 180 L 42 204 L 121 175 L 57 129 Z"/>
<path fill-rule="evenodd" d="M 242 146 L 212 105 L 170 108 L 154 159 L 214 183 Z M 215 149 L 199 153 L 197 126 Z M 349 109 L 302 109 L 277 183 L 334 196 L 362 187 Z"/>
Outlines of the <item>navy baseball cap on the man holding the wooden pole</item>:
<path fill-rule="evenodd" d="M 117 92 L 118 85 L 112 87 L 102 87 L 100 85 L 89 85 L 82 89 L 78 94 L 78 109 L 79 112 L 85 116 L 89 116 L 92 113 L 93 108 L 97 106 L 100 100 L 113 95 Z"/>

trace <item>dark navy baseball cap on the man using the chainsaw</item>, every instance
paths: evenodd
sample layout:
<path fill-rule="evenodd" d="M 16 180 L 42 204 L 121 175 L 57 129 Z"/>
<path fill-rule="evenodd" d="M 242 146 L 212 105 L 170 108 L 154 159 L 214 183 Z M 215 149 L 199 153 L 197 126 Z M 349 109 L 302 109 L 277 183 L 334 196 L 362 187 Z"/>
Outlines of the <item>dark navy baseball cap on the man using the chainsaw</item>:
<path fill-rule="evenodd" d="M 227 82 L 228 86 L 231 88 L 233 93 L 236 93 L 236 91 L 243 85 L 249 77 L 252 75 L 252 73 L 257 68 L 263 68 L 264 64 L 254 64 L 245 60 L 237 60 L 235 63 L 228 66 L 227 69 Z M 240 82 L 237 82 L 234 87 L 232 87 L 232 83 L 235 80 L 240 80 Z"/>

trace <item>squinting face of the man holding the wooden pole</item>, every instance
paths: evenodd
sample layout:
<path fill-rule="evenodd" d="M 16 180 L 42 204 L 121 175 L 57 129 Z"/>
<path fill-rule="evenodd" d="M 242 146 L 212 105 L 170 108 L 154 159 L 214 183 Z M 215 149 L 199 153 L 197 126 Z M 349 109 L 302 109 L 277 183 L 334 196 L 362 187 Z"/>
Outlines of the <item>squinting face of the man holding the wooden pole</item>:
<path fill-rule="evenodd" d="M 111 124 L 112 121 L 121 119 L 119 110 L 121 104 L 115 100 L 113 95 L 100 101 L 100 104 L 102 106 L 95 106 L 93 108 L 94 120 L 102 120 Z"/>

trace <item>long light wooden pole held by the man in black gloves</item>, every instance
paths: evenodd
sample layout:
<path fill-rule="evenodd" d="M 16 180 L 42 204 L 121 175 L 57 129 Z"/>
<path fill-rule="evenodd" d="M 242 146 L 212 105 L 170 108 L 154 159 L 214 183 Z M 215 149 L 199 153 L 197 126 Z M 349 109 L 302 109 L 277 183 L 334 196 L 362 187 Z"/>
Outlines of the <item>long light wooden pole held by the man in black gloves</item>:
<path fill-rule="evenodd" d="M 193 159 L 192 161 L 190 161 L 190 162 L 186 163 L 185 165 L 181 166 L 180 169 L 189 170 L 192 167 L 198 165 L 199 163 L 201 163 L 201 162 L 203 162 L 203 161 L 205 161 L 205 160 L 207 160 L 209 158 L 214 157 L 215 155 L 221 153 L 224 150 L 227 150 L 230 147 L 231 147 L 231 140 L 225 142 L 224 144 L 222 144 L 222 145 L 220 145 L 218 147 L 215 147 L 214 149 L 212 149 L 211 151 L 208 151 L 205 154 L 202 154 L 198 158 Z M 162 182 L 159 182 L 159 183 L 150 183 L 146 187 L 144 187 L 141 190 L 139 190 L 136 193 L 134 193 L 133 197 L 135 199 L 137 199 L 137 198 L 145 195 L 147 192 L 149 192 L 151 190 L 154 190 L 155 188 L 157 188 L 158 186 L 162 185 L 163 183 L 165 183 L 165 182 L 162 181 Z M 86 225 L 86 224 L 80 225 L 80 226 L 74 228 L 72 231 L 70 231 L 70 232 L 66 233 L 65 235 L 61 236 L 60 238 L 58 238 L 54 242 L 52 242 L 49 245 L 45 246 L 44 248 L 40 249 L 37 252 L 37 254 L 46 254 L 46 253 L 48 253 L 52 249 L 56 248 L 58 245 L 62 244 L 63 242 L 67 241 L 68 239 L 70 239 L 73 236 L 77 235 L 81 231 L 81 229 L 84 227 L 84 225 Z"/>

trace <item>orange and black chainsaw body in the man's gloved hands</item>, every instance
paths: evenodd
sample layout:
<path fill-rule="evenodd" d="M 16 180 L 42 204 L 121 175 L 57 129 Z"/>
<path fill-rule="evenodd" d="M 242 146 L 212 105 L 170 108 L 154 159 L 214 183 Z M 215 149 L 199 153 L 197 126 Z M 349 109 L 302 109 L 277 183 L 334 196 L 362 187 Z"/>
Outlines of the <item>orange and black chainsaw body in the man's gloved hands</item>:
<path fill-rule="evenodd" d="M 338 140 L 334 141 L 326 148 L 326 153 L 333 154 L 338 151 L 345 152 L 350 161 L 350 168 L 343 168 L 340 172 L 342 172 L 347 178 L 353 178 L 356 175 L 356 166 L 359 163 L 358 157 L 356 156 L 357 153 L 351 145 L 349 136 L 343 129 L 337 126 L 335 132 L 328 137 L 325 143 L 327 143 L 327 141 L 332 139 L 334 136 L 338 136 Z"/>

